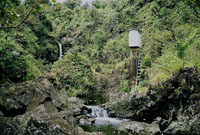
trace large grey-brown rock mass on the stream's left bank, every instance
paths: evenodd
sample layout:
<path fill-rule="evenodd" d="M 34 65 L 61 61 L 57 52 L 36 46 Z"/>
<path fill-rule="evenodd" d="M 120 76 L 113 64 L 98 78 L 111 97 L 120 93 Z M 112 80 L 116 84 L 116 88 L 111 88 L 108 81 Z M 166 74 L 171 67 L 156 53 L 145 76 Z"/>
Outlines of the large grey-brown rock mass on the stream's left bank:
<path fill-rule="evenodd" d="M 81 135 L 66 92 L 56 90 L 49 78 L 3 88 L 0 94 L 1 135 Z"/>

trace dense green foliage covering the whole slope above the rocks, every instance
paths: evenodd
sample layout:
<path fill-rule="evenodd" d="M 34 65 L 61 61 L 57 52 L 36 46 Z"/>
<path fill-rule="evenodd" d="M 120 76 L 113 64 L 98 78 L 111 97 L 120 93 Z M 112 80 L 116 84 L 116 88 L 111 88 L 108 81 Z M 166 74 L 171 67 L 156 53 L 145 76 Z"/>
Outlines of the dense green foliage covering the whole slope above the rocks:
<path fill-rule="evenodd" d="M 128 91 L 128 31 L 131 29 L 138 29 L 142 34 L 144 81 L 141 87 L 157 85 L 183 67 L 200 71 L 197 0 L 112 0 L 95 1 L 92 6 L 68 0 L 47 7 L 46 11 L 44 16 L 23 27 L 0 31 L 4 35 L 0 40 L 1 82 L 39 76 L 44 65 L 57 60 L 60 42 L 64 58 L 53 64 L 51 72 L 70 95 L 113 86 Z M 7 9 L 1 9 L 1 16 L 3 12 L 10 14 Z M 0 21 L 4 23 L 5 17 Z"/>

